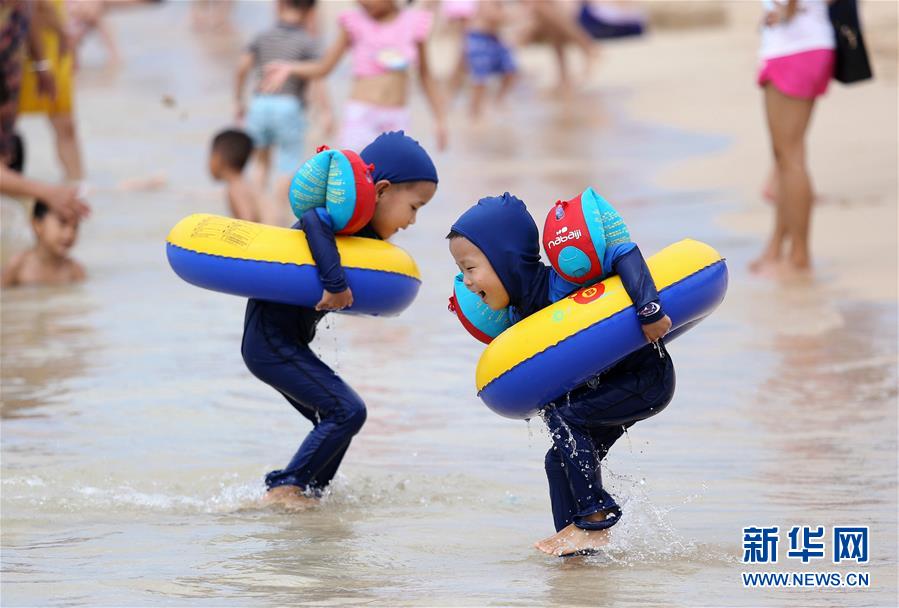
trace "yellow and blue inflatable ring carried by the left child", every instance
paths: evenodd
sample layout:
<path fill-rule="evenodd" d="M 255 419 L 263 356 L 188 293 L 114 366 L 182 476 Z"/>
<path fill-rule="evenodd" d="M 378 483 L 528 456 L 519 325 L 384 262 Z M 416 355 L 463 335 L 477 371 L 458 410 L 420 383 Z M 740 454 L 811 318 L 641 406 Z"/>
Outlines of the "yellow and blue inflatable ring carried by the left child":
<path fill-rule="evenodd" d="M 336 241 L 353 290 L 353 305 L 342 312 L 393 316 L 412 303 L 421 276 L 408 253 L 376 239 Z M 302 230 L 198 213 L 172 228 L 166 255 L 179 277 L 212 291 L 308 308 L 321 299 Z"/>

